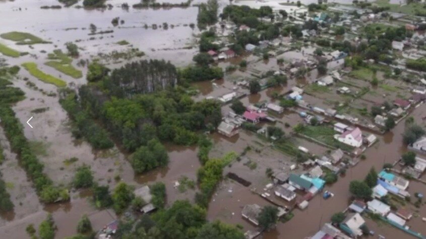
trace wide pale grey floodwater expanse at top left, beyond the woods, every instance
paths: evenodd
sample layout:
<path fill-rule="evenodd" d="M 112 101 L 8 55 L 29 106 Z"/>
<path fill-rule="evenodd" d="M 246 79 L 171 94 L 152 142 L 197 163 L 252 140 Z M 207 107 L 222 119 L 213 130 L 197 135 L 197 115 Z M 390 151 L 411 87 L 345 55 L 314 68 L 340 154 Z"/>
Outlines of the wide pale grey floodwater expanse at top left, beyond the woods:
<path fill-rule="evenodd" d="M 132 5 L 139 1 L 108 1 L 119 6 L 127 2 Z M 76 44 L 84 48 L 80 50 L 81 58 L 89 58 L 98 52 L 111 52 L 124 49 L 127 46 L 114 44 L 120 40 L 127 40 L 133 47 L 144 51 L 150 58 L 170 60 L 172 63 L 183 66 L 192 61 L 194 53 L 198 50 L 184 49 L 194 43 L 193 34 L 198 30 L 191 29 L 188 25 L 196 23 L 198 9 L 173 8 L 173 9 L 143 9 L 130 8 L 128 11 L 120 7 L 111 10 L 84 10 L 63 8 L 58 10 L 42 10 L 40 6 L 57 5 L 57 1 L 17 0 L 15 2 L 0 1 L 0 15 L 2 16 L 2 33 L 9 31 L 23 31 L 32 33 L 52 44 L 16 45 L 12 41 L 2 39 L 5 43 L 20 51 L 38 54 L 40 50 L 51 52 L 55 46 L 64 49 L 64 44 L 69 41 L 78 41 Z M 21 8 L 21 11 L 19 10 Z M 36 16 L 36 17 L 35 17 Z M 113 27 L 111 20 L 119 17 L 124 20 L 123 25 Z M 19 19 L 19 21 L 16 21 Z M 168 29 L 152 25 L 168 24 Z M 89 36 L 89 25 L 95 24 L 98 31 L 113 30 L 111 34 Z M 149 26 L 144 28 L 145 24 Z M 173 25 L 173 27 L 171 27 Z M 185 26 L 184 26 L 185 25 Z M 90 40 L 94 37 L 95 40 Z"/>

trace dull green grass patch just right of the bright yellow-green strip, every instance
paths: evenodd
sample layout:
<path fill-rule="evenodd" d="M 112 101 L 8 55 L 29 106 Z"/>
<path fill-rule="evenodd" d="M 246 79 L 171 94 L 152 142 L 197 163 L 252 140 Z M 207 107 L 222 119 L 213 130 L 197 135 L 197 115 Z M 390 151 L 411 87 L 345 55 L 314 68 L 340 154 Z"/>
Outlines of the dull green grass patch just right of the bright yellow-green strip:
<path fill-rule="evenodd" d="M 47 59 L 51 61 L 47 61 L 44 63 L 45 65 L 53 67 L 64 74 L 67 74 L 75 79 L 81 78 L 83 76 L 83 73 L 71 64 L 73 59 L 71 59 L 71 57 L 63 53 L 61 50 L 54 50 L 53 53 L 47 55 Z"/>

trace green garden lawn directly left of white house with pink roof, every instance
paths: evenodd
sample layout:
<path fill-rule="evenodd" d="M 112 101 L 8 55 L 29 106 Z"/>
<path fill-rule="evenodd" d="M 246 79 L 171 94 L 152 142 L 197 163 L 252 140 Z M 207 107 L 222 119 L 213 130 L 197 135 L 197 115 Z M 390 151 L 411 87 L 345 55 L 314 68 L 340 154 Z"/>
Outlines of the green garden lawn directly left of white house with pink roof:
<path fill-rule="evenodd" d="M 334 138 L 335 134 L 339 134 L 338 132 L 334 131 L 333 128 L 327 127 L 327 126 L 311 126 L 307 125 L 303 127 L 300 134 L 306 135 L 308 137 L 314 138 L 320 142 L 323 142 L 327 145 L 340 148 L 345 151 L 352 151 L 353 147 L 344 144 L 342 142 L 337 141 Z"/>

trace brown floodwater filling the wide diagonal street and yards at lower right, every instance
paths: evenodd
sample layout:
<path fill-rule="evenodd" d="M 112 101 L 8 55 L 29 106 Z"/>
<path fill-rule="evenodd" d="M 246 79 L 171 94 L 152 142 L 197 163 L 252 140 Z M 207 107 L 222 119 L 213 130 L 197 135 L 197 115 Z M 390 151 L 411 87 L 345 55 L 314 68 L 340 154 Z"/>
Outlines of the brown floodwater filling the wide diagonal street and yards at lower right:
<path fill-rule="evenodd" d="M 426 105 L 421 105 L 415 109 L 412 116 L 417 122 L 421 122 L 421 117 L 426 112 Z M 368 170 L 375 167 L 380 170 L 384 163 L 393 163 L 399 155 L 406 151 L 406 147 L 402 145 L 402 133 L 404 131 L 404 122 L 401 121 L 393 130 L 393 133 L 385 134 L 380 137 L 380 142 L 373 147 L 367 149 L 365 152 L 367 160 L 361 161 L 357 166 L 347 170 L 346 176 L 339 178 L 339 180 L 332 186 L 327 186 L 326 190 L 330 190 L 335 196 L 328 200 L 323 200 L 322 197 L 317 196 L 310 201 L 310 205 L 305 211 L 296 211 L 295 216 L 287 223 L 279 224 L 277 229 L 266 233 L 264 238 L 304 238 L 316 233 L 319 228 L 325 223 L 329 222 L 331 215 L 337 211 L 342 211 L 348 206 L 349 195 L 349 182 L 352 180 L 363 180 Z M 410 187 L 414 191 L 424 192 L 424 185 L 417 185 L 411 182 Z M 409 187 L 409 188 L 410 188 Z M 408 223 L 412 225 L 411 229 L 426 234 L 426 227 L 421 217 L 426 216 L 424 206 L 420 209 L 420 216 L 413 218 Z M 302 230 L 295 230 L 302 225 Z M 376 232 L 385 235 L 386 238 L 409 238 L 406 233 L 397 230 L 390 226 L 375 226 L 375 223 L 369 223 L 369 227 L 375 228 Z"/>

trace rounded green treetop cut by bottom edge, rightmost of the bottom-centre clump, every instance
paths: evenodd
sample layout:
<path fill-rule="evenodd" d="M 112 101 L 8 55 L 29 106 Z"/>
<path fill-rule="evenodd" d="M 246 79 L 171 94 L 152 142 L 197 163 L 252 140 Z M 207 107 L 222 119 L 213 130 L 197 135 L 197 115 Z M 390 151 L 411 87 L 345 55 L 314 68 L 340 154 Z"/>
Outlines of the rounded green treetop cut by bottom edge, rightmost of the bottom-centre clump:
<path fill-rule="evenodd" d="M 244 234 L 235 226 L 227 225 L 219 220 L 203 225 L 196 239 L 244 239 Z"/>

